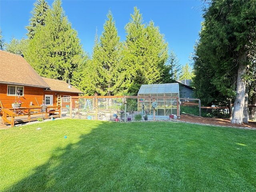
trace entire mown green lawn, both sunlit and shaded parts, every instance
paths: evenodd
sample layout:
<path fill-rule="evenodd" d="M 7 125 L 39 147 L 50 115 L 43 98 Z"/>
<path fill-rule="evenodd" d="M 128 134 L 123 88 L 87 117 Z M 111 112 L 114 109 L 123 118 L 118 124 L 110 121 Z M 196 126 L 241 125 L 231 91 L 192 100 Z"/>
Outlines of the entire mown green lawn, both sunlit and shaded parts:
<path fill-rule="evenodd" d="M 255 130 L 79 119 L 22 128 L 0 130 L 1 192 L 256 191 Z"/>

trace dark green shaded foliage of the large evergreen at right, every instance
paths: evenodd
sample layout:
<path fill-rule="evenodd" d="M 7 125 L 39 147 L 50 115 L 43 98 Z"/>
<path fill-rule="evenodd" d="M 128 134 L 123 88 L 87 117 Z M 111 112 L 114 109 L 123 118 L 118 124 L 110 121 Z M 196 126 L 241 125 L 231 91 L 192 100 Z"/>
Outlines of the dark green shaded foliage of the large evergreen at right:
<path fill-rule="evenodd" d="M 245 83 L 241 76 L 245 78 L 252 69 L 250 55 L 256 50 L 255 6 L 255 0 L 212 0 L 207 4 L 193 57 L 195 93 L 204 102 L 242 96 L 240 90 L 245 90 Z M 247 74 L 246 66 L 250 68 Z M 237 86 L 241 87 L 236 92 Z M 237 104 L 243 105 L 243 101 Z"/>

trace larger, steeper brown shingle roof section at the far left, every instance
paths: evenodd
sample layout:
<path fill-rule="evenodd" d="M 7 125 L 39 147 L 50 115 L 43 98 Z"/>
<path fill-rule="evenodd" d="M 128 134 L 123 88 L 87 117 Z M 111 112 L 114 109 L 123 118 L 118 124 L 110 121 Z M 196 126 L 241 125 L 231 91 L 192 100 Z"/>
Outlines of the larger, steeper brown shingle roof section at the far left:
<path fill-rule="evenodd" d="M 0 83 L 50 88 L 19 55 L 0 50 Z"/>

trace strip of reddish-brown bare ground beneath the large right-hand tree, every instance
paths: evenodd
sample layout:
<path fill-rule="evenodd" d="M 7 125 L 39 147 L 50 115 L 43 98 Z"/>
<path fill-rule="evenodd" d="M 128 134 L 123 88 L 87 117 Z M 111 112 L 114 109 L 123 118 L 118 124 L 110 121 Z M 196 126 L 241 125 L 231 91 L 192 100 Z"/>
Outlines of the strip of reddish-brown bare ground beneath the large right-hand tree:
<path fill-rule="evenodd" d="M 175 119 L 175 120 L 182 121 L 182 122 L 210 124 L 210 125 L 226 126 L 226 127 L 252 128 L 256 130 L 256 122 L 248 122 L 248 123 L 243 123 L 239 125 L 239 124 L 230 123 L 230 119 L 206 118 L 206 117 L 185 116 L 185 115 L 181 115 L 180 119 Z"/>

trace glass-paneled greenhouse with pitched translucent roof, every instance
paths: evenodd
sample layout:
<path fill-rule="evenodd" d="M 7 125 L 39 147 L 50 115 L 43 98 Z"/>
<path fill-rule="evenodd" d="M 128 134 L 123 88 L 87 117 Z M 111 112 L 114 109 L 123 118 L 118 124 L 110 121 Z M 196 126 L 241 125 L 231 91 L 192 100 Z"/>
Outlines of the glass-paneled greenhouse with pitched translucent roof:
<path fill-rule="evenodd" d="M 138 109 L 142 108 L 146 114 L 152 115 L 153 110 L 156 116 L 179 116 L 180 114 L 178 83 L 142 85 L 138 96 L 142 97 L 138 99 Z M 156 104 L 155 108 L 154 104 Z"/>

